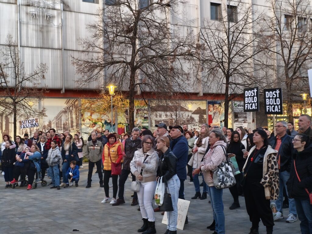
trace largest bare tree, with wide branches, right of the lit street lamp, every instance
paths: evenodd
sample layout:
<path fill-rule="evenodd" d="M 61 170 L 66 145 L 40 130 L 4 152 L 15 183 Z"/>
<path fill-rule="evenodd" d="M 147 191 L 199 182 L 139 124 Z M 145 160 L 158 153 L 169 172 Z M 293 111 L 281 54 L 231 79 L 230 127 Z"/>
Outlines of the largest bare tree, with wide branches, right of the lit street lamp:
<path fill-rule="evenodd" d="M 79 86 L 112 82 L 129 91 L 129 127 L 134 127 L 134 95 L 166 97 L 193 84 L 196 36 L 183 37 L 171 23 L 178 0 L 106 1 L 98 21 L 88 25 L 93 37 L 81 40 L 87 58 L 73 57 Z M 94 52 L 94 53 L 90 53 Z M 105 86 L 103 86 L 105 87 Z"/>

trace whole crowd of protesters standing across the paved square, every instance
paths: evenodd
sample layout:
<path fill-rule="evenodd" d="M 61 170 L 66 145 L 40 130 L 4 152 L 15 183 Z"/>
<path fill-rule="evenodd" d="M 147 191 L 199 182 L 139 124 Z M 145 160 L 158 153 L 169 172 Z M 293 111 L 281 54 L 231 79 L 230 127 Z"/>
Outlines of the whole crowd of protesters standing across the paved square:
<path fill-rule="evenodd" d="M 195 190 L 194 197 L 190 198 L 209 198 L 211 203 L 214 220 L 207 228 L 214 234 L 224 234 L 223 189 L 215 187 L 213 171 L 231 158 L 237 163 L 237 172 L 236 185 L 229 188 L 233 197 L 229 209 L 240 208 L 238 198 L 244 197 L 251 222 L 249 234 L 259 233 L 260 220 L 266 233 L 273 233 L 274 222 L 284 219 L 283 208 L 288 207 L 286 222 L 292 223 L 298 218 L 301 233 L 311 234 L 311 124 L 309 115 L 300 116 L 299 131 L 292 122 L 285 121 L 277 121 L 272 132 L 262 127 L 252 130 L 240 126 L 234 130 L 202 124 L 196 130 L 188 129 L 187 124 L 167 127 L 159 123 L 154 132 L 134 128 L 121 138 L 108 130 L 93 131 L 86 142 L 80 132 L 56 134 L 55 129 L 35 132 L 32 138 L 28 134 L 23 138 L 16 136 L 15 141 L 4 135 L 2 175 L 5 188 L 19 183 L 19 187 L 27 184 L 27 190 L 31 190 L 33 183 L 45 178 L 46 172 L 51 178 L 50 188 L 69 188 L 74 183 L 78 187 L 79 169 L 83 168 L 85 156 L 88 159 L 86 188 L 91 187 L 96 166 L 100 187 L 105 191 L 101 203 L 119 206 L 125 203 L 124 185 L 131 174 L 132 181 L 139 182 L 131 206 L 139 204 L 143 225 L 137 232 L 143 234 L 156 233 L 154 212 L 162 210 L 161 206 L 154 210 L 152 206 L 157 182 L 167 184 L 173 204 L 173 211 L 167 212 L 165 234 L 177 233 L 178 199 L 185 199 L 184 183 L 189 177 L 188 184 L 194 184 Z M 120 173 L 116 174 L 115 167 L 120 167 Z"/>

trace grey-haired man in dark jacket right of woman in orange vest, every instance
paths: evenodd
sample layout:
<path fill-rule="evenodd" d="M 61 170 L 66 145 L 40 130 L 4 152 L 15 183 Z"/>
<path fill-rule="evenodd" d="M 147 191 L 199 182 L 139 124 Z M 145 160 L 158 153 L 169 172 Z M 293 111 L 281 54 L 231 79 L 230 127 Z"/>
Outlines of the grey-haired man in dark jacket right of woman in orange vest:
<path fill-rule="evenodd" d="M 130 162 L 134 156 L 134 152 L 138 149 L 142 148 L 141 145 L 141 139 L 140 136 L 140 129 L 139 128 L 133 128 L 132 129 L 132 136 L 128 139 L 126 139 L 126 142 L 124 143 L 124 162 L 123 162 L 123 168 L 121 171 L 121 175 L 119 176 L 119 192 L 118 192 L 118 199 L 115 204 L 112 206 L 119 206 L 121 204 L 124 204 L 124 183 L 126 182 L 130 171 Z M 135 181 L 135 176 L 132 174 L 132 181 Z M 138 195 L 137 193 L 134 193 L 133 195 L 133 201 L 131 203 L 131 206 L 138 205 Z"/>

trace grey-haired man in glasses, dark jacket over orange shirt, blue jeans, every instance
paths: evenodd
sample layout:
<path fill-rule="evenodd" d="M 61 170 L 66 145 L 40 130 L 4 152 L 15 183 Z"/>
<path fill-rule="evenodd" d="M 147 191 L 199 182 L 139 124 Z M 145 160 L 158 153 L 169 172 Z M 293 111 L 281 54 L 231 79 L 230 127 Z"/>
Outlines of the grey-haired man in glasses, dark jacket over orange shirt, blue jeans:
<path fill-rule="evenodd" d="M 287 123 L 285 121 L 277 121 L 275 125 L 276 137 L 270 138 L 270 144 L 273 149 L 277 150 L 277 160 L 280 175 L 280 195 L 276 203 L 276 212 L 273 216 L 274 221 L 278 219 L 283 219 L 283 190 L 284 187 L 287 188 L 287 181 L 289 179 L 290 164 L 292 162 L 292 152 L 294 146 L 292 144 L 293 137 L 286 134 Z M 286 190 L 287 192 L 287 190 Z M 287 192 L 288 196 L 288 192 Z M 289 215 L 286 222 L 292 223 L 297 221 L 297 211 L 295 200 L 288 197 L 289 200 Z"/>

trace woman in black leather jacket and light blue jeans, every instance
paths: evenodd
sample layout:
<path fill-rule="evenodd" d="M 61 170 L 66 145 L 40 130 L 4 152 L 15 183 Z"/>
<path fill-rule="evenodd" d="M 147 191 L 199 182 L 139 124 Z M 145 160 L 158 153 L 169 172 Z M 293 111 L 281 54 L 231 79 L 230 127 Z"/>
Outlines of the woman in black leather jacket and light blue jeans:
<path fill-rule="evenodd" d="M 176 234 L 180 189 L 180 180 L 177 176 L 177 158 L 169 148 L 169 139 L 167 136 L 157 138 L 157 149 L 163 152 L 163 155 L 159 158 L 157 176 L 158 178 L 163 177 L 163 183 L 167 181 L 169 189 L 167 192 L 171 194 L 173 205 L 173 211 L 167 212 L 168 225 L 164 234 Z"/>

